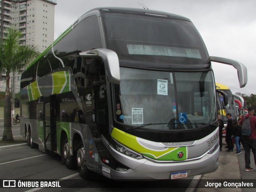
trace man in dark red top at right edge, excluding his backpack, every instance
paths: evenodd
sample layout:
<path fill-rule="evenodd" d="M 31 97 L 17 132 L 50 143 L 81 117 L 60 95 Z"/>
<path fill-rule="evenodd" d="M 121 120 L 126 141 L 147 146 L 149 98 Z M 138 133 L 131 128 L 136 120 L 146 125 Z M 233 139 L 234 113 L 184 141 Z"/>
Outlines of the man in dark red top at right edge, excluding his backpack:
<path fill-rule="evenodd" d="M 244 143 L 244 160 L 245 160 L 245 171 L 251 171 L 253 170 L 253 168 L 251 168 L 250 164 L 250 154 L 251 154 L 251 150 L 254 156 L 254 163 L 256 165 L 256 116 L 253 115 L 254 114 L 254 108 L 253 107 L 249 107 L 248 108 L 248 114 L 245 115 L 245 118 L 248 118 L 250 116 L 252 116 L 249 120 L 250 120 L 250 127 L 251 127 L 251 135 L 246 137 L 246 136 L 242 136 L 242 140 Z M 245 118 L 243 117 L 242 120 L 240 121 L 240 124 L 242 126 Z"/>

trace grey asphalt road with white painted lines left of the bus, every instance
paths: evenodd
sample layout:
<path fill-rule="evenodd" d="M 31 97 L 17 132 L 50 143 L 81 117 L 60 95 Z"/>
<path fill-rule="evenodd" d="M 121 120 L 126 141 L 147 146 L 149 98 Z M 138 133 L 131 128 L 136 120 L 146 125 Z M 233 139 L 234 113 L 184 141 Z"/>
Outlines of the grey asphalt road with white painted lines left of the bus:
<path fill-rule="evenodd" d="M 3 119 L 0 119 L 0 139 L 3 134 Z M 14 138 L 20 136 L 20 125 L 12 125 Z M 90 191 L 90 192 L 191 192 L 188 188 L 193 177 L 177 180 L 162 181 L 114 181 L 96 173 L 91 174 L 90 180 L 82 179 L 77 170 L 69 170 L 61 162 L 61 157 L 52 152 L 45 153 L 38 149 L 31 149 L 28 146 L 21 146 L 12 149 L 0 150 L 0 182 L 3 180 L 20 181 L 58 181 L 61 188 L 4 188 L 4 191 L 32 192 L 32 191 Z M 0 186 L 2 183 L 0 183 Z M 3 188 L 2 188 L 3 189 Z M 0 191 L 2 190 L 0 188 Z"/>

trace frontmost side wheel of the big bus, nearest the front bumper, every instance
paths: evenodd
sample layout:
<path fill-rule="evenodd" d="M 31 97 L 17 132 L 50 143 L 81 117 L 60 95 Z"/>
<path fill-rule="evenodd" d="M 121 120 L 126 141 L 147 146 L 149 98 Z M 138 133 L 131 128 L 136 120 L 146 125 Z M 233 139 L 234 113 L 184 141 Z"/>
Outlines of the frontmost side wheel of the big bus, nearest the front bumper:
<path fill-rule="evenodd" d="M 84 179 L 88 178 L 90 170 L 88 170 L 86 166 L 86 158 L 85 158 L 85 151 L 84 151 L 84 145 L 82 141 L 78 144 L 78 151 L 76 154 L 76 162 L 77 162 L 77 169 L 80 174 L 80 176 Z"/>

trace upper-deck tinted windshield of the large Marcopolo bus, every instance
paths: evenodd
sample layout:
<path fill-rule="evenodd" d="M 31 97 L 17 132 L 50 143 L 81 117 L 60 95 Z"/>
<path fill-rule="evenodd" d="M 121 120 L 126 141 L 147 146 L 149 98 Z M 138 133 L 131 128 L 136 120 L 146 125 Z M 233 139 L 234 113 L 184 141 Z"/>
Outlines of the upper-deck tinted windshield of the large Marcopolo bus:
<path fill-rule="evenodd" d="M 204 42 L 190 21 L 108 12 L 103 18 L 107 47 L 120 60 L 208 64 Z"/>

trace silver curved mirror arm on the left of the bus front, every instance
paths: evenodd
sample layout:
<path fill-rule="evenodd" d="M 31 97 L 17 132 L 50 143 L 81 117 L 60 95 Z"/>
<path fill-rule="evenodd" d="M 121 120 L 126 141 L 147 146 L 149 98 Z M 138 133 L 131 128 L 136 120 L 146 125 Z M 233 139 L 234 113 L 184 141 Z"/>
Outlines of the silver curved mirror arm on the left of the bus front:
<path fill-rule="evenodd" d="M 100 57 L 105 64 L 107 76 L 110 82 L 114 84 L 120 84 L 120 68 L 119 59 L 116 52 L 105 49 L 98 48 L 92 49 L 86 52 L 79 53 L 81 57 Z"/>

